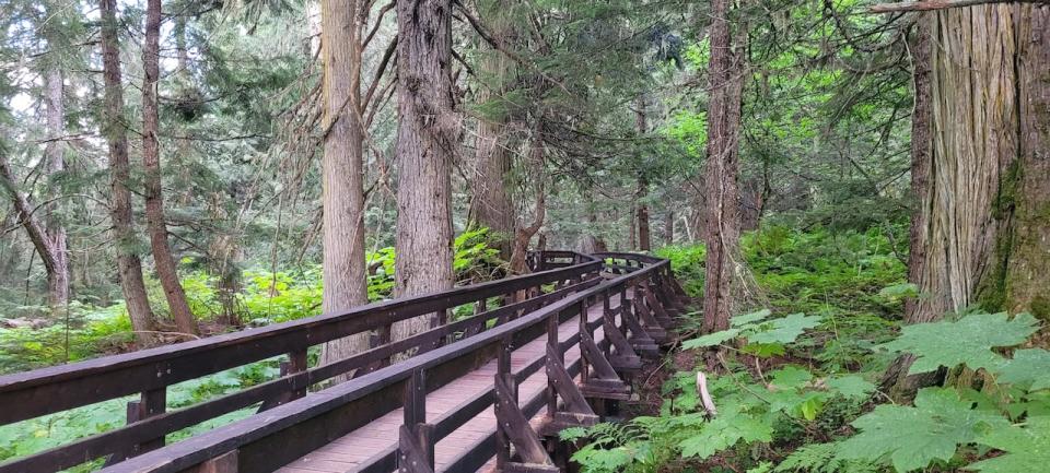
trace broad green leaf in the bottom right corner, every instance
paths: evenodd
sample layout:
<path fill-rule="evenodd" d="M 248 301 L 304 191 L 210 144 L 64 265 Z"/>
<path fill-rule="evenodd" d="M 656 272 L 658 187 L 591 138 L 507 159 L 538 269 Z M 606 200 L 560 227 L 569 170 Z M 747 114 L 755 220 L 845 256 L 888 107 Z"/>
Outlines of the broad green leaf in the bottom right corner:
<path fill-rule="evenodd" d="M 1050 469 L 1050 416 L 1030 417 L 1024 426 L 990 430 L 977 440 L 1006 454 L 981 460 L 967 470 L 981 473 L 1043 472 Z"/>

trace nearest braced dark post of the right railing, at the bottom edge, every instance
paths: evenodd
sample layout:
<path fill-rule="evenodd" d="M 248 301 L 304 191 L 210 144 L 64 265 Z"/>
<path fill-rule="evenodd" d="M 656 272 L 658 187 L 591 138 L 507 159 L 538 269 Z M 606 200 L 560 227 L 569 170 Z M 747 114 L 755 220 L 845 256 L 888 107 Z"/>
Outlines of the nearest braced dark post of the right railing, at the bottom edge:
<path fill-rule="evenodd" d="M 434 426 L 427 424 L 427 380 L 422 369 L 405 381 L 402 403 L 405 423 L 398 437 L 397 471 L 433 473 Z"/>

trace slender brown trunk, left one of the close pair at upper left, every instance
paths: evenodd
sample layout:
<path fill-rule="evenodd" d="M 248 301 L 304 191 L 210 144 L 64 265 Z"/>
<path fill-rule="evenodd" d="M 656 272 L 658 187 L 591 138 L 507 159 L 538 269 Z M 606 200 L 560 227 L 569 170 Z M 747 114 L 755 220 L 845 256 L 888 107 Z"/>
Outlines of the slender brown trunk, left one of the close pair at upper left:
<path fill-rule="evenodd" d="M 131 191 L 127 187 L 130 178 L 128 159 L 128 134 L 124 119 L 124 90 L 120 83 L 119 25 L 116 15 L 116 0 L 98 1 L 102 19 L 102 62 L 105 80 L 105 120 L 103 134 L 109 151 L 109 175 L 113 203 L 110 218 L 116 239 L 117 271 L 120 288 L 140 344 L 153 343 L 153 314 L 142 281 L 142 261 L 136 253 L 135 228 L 131 215 Z"/>

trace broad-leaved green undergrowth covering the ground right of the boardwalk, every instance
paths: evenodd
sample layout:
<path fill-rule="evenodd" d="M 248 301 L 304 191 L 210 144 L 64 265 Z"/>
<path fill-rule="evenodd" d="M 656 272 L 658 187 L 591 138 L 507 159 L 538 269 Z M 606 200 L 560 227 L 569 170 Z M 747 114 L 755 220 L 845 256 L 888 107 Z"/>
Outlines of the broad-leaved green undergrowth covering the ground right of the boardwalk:
<path fill-rule="evenodd" d="M 586 473 L 1046 471 L 1050 352 L 1028 347 L 1039 321 L 975 310 L 900 327 L 914 291 L 889 240 L 878 230 L 749 235 L 743 250 L 769 307 L 685 340 L 658 412 L 562 431 L 583 446 L 573 460 Z M 702 287 L 702 248 L 658 253 L 687 287 Z M 911 374 L 960 375 L 895 403 L 877 383 L 906 353 Z"/>

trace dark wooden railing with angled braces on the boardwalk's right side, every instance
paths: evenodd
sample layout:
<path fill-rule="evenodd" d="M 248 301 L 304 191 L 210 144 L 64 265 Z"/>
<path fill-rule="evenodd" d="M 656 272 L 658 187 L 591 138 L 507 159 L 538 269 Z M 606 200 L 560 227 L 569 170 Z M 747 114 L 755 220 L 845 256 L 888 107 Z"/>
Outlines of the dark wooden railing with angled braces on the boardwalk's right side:
<path fill-rule="evenodd" d="M 588 399 L 626 399 L 619 373 L 638 366 L 638 353 L 655 351 L 656 338 L 666 336 L 674 323 L 673 314 L 680 310 L 665 310 L 680 307 L 684 299 L 684 294 L 660 288 L 676 286 L 667 261 L 632 260 L 629 265 L 637 269 L 600 282 L 580 283 L 590 286 L 474 336 L 143 453 L 104 473 L 271 472 L 401 406 L 405 424 L 397 449 L 378 452 L 357 471 L 389 472 L 396 468 L 400 472 L 429 473 L 434 471 L 436 441 L 493 405 L 497 425 L 492 434 L 465 449 L 445 471 L 475 471 L 493 454 L 503 471 L 558 471 L 540 446 L 541 435 L 596 422 Z M 610 307 L 614 295 L 622 301 L 617 307 Z M 559 323 L 586 314 L 587 307 L 598 301 L 604 309 L 599 320 L 580 317 L 580 331 L 559 340 Z M 598 327 L 604 335 L 600 341 L 595 340 Z M 512 373 L 510 353 L 514 347 L 545 332 L 547 355 Z M 567 367 L 563 354 L 574 345 L 580 346 L 582 356 Z M 491 359 L 499 360 L 492 389 L 465 400 L 441 418 L 425 418 L 427 393 Z M 521 404 L 515 385 L 541 367 L 547 370 L 547 390 Z M 578 374 L 579 385 L 573 379 Z M 527 419 L 545 405 L 549 422 L 537 433 Z M 511 457 L 511 446 L 515 457 Z"/>

